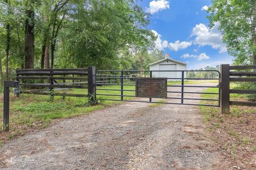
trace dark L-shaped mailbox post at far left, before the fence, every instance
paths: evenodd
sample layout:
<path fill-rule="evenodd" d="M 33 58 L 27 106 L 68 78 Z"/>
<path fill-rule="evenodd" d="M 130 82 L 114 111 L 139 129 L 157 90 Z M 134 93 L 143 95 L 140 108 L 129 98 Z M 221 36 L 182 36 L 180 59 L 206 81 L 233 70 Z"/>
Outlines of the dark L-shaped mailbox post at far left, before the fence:
<path fill-rule="evenodd" d="M 10 87 L 11 88 L 18 88 L 19 82 L 18 81 L 4 81 L 4 124 L 3 130 L 9 130 L 9 103 L 10 103 Z"/>

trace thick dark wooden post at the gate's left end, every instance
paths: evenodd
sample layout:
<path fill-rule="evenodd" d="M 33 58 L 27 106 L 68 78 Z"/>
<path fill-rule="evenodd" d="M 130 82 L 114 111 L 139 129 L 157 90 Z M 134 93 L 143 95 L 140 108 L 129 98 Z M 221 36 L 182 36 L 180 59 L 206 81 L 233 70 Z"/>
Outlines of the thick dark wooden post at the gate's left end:
<path fill-rule="evenodd" d="M 94 66 L 88 67 L 88 97 L 96 95 L 96 70 Z"/>

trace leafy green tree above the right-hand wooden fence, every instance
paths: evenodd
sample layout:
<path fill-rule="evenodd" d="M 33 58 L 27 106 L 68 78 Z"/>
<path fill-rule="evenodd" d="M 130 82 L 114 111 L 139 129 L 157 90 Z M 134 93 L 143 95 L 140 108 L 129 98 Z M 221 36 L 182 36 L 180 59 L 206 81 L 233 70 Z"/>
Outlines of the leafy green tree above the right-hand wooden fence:
<path fill-rule="evenodd" d="M 208 16 L 219 30 L 236 64 L 256 64 L 256 1 L 213 0 Z"/>

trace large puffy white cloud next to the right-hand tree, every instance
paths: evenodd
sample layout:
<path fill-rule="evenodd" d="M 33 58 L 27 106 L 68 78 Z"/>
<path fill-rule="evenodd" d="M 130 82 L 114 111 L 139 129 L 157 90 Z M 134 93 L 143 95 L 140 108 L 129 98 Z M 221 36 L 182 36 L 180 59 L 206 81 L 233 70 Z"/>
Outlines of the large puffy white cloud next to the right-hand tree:
<path fill-rule="evenodd" d="M 226 44 L 222 41 L 221 32 L 218 30 L 220 23 L 215 23 L 211 29 L 199 23 L 193 28 L 192 36 L 196 36 L 194 44 L 199 46 L 209 45 L 218 49 L 219 53 L 227 52 Z"/>

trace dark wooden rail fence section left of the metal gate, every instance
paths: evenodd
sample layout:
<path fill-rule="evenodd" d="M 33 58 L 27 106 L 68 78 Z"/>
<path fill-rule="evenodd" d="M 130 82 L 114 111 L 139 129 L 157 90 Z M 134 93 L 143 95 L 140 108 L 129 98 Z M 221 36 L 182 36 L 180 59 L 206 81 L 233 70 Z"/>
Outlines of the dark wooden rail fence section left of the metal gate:
<path fill-rule="evenodd" d="M 19 86 L 26 89 L 21 91 L 23 94 L 50 95 L 52 90 L 87 89 L 89 86 L 91 87 L 93 83 L 91 77 L 95 75 L 95 73 L 94 75 L 92 73 L 93 70 L 95 70 L 95 67 L 81 69 L 17 69 L 16 79 Z M 54 92 L 54 96 L 87 97 L 88 94 Z"/>

